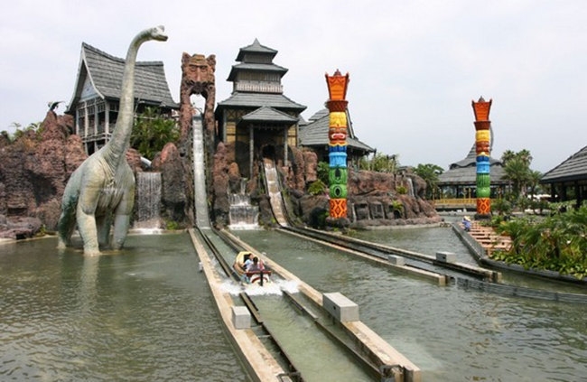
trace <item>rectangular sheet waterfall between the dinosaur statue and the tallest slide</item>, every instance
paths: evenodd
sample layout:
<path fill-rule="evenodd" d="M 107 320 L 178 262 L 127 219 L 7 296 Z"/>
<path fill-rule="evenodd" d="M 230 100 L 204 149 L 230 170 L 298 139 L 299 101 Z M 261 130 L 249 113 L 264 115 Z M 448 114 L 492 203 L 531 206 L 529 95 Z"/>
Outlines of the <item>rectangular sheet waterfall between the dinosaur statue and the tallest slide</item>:
<path fill-rule="evenodd" d="M 136 172 L 135 228 L 161 228 L 161 172 Z"/>

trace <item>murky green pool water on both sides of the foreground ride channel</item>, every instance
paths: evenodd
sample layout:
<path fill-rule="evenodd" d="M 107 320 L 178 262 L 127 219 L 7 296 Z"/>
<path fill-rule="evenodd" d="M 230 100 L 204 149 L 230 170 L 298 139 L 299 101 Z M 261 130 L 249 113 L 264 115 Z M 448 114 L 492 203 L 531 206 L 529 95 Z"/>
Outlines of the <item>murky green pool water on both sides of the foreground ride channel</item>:
<path fill-rule="evenodd" d="M 441 287 L 275 231 L 237 234 L 317 290 L 359 303 L 361 321 L 424 381 L 587 376 L 585 305 Z M 366 235 L 466 257 L 448 228 Z M 0 246 L 0 380 L 248 380 L 186 234 L 131 236 L 122 256 L 55 247 Z"/>

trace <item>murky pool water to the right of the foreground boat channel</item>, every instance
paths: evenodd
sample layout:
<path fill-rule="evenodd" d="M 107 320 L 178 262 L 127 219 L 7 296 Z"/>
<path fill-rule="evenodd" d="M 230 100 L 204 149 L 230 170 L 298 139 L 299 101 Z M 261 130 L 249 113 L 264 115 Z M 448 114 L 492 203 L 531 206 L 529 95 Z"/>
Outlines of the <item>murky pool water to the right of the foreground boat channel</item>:
<path fill-rule="evenodd" d="M 460 241 L 450 238 L 450 228 L 360 234 L 426 254 L 443 250 L 467 256 Z M 275 231 L 238 236 L 318 291 L 340 292 L 359 303 L 361 321 L 422 368 L 425 381 L 587 376 L 585 305 L 437 286 Z"/>

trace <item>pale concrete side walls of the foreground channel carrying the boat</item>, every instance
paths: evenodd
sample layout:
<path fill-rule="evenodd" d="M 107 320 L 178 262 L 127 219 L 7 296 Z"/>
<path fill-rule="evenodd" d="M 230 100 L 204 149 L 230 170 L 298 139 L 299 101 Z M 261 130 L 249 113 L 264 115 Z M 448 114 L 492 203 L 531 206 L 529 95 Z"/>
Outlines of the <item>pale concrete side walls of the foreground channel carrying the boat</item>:
<path fill-rule="evenodd" d="M 303 380 L 296 379 L 291 375 L 290 370 L 285 370 L 280 366 L 280 362 L 275 359 L 271 351 L 266 349 L 264 343 L 259 340 L 256 332 L 251 328 L 250 321 L 254 313 L 249 312 L 247 307 L 237 306 L 231 295 L 222 290 L 223 280 L 216 270 L 214 260 L 210 257 L 207 248 L 200 242 L 193 230 L 190 230 L 190 236 L 200 257 L 201 269 L 208 279 L 228 338 L 237 349 L 238 356 L 247 368 L 249 376 L 260 382 Z M 299 292 L 303 293 L 307 300 L 312 301 L 312 308 L 320 309 L 321 312 L 330 315 L 340 331 L 343 331 L 354 342 L 355 349 L 359 349 L 358 351 L 361 353 L 359 357 L 368 359 L 379 369 L 380 378 L 378 380 L 382 382 L 419 382 L 422 380 L 420 368 L 359 320 L 358 304 L 350 301 L 341 293 L 319 293 L 284 267 L 276 264 L 274 260 L 267 259 L 266 256 L 258 253 L 255 248 L 240 242 L 238 238 L 232 237 L 231 239 L 239 242 L 240 246 L 253 252 L 262 260 L 271 261 L 272 271 L 284 280 L 297 284 Z"/>

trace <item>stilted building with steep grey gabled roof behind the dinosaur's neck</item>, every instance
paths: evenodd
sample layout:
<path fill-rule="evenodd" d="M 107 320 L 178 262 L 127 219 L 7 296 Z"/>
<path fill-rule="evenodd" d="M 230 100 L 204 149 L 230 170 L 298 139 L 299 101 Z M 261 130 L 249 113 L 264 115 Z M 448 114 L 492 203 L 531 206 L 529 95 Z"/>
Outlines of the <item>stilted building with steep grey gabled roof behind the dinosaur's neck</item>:
<path fill-rule="evenodd" d="M 87 154 L 107 143 L 116 126 L 125 60 L 82 42 L 78 79 L 67 114 L 74 117 L 75 134 L 81 137 Z M 135 64 L 135 113 L 157 107 L 162 116 L 179 108 L 173 101 L 162 61 Z"/>

